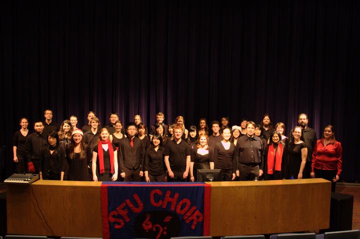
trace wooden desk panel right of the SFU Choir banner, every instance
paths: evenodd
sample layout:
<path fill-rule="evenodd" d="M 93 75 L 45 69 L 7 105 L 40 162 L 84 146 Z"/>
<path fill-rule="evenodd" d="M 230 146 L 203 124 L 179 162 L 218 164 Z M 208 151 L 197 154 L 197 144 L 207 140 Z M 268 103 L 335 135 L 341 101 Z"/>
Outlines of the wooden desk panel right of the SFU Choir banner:
<path fill-rule="evenodd" d="M 330 182 L 323 179 L 211 184 L 210 235 L 328 228 Z"/>

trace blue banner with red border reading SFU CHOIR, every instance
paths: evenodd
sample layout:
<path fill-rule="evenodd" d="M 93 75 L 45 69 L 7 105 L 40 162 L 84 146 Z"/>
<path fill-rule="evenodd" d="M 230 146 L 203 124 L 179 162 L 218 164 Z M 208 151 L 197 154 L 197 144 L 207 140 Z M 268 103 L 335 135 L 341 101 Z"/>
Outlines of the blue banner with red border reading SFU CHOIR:
<path fill-rule="evenodd" d="M 103 239 L 209 236 L 210 185 L 103 182 Z"/>

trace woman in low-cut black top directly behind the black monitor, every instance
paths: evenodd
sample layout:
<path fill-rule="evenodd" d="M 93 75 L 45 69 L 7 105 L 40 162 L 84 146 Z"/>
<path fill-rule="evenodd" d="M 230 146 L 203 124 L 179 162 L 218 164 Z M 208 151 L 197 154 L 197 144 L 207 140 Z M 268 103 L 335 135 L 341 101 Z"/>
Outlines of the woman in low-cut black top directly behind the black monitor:
<path fill-rule="evenodd" d="M 209 148 L 207 134 L 200 134 L 198 144 L 191 149 L 190 181 L 197 182 L 198 169 L 214 169 L 212 149 Z"/>

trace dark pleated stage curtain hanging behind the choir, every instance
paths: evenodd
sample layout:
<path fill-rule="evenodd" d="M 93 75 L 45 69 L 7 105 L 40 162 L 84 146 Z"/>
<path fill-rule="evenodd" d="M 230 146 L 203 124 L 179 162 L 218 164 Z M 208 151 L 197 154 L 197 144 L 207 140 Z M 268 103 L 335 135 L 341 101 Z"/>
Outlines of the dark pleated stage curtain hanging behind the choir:
<path fill-rule="evenodd" d="M 269 113 L 286 134 L 300 112 L 317 137 L 332 124 L 342 179 L 360 180 L 359 3 L 351 0 L 4 0 L 1 145 L 51 108 L 79 125 L 96 112 L 149 126 L 162 111 L 187 127 Z M 352 124 L 349 124 L 352 122 Z"/>

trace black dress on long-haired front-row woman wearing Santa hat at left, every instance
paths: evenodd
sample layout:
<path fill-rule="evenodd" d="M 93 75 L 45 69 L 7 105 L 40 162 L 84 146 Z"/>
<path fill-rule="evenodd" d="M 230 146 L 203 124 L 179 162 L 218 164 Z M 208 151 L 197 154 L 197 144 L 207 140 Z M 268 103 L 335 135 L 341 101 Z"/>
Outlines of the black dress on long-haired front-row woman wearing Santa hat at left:
<path fill-rule="evenodd" d="M 80 153 L 73 153 L 73 158 L 70 158 L 70 148 L 66 150 L 66 159 L 68 164 L 67 180 L 72 181 L 89 181 L 88 174 L 88 157 L 87 150 L 84 158 L 80 158 Z"/>

